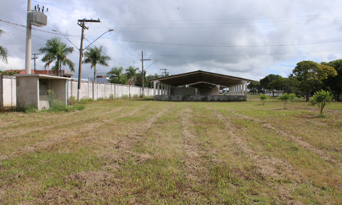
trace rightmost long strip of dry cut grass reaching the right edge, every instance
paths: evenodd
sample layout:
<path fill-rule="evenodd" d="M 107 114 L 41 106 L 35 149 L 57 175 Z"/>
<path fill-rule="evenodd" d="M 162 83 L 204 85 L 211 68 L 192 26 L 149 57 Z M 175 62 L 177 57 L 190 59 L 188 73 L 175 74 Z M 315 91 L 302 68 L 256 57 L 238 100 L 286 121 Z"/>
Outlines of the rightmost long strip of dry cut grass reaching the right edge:
<path fill-rule="evenodd" d="M 269 130 L 275 131 L 276 133 L 278 133 L 278 134 L 280 134 L 286 138 L 289 138 L 290 140 L 292 140 L 293 142 L 297 143 L 298 145 L 304 147 L 305 149 L 319 155 L 321 158 L 323 158 L 323 159 L 325 159 L 325 160 L 327 160 L 333 164 L 336 164 L 342 168 L 342 164 L 340 162 L 338 162 L 337 160 L 333 159 L 333 157 L 331 155 L 327 154 L 324 150 L 318 149 L 318 148 L 312 146 L 311 144 L 307 143 L 306 141 L 304 141 L 304 139 L 302 137 L 296 137 L 296 136 L 293 136 L 293 135 L 287 133 L 284 130 L 276 129 L 268 122 L 263 122 L 259 119 L 254 119 L 250 116 L 238 114 L 238 113 L 236 113 L 236 111 L 234 111 L 232 109 L 229 109 L 229 111 L 232 112 L 236 117 L 244 118 L 244 119 L 248 119 L 248 120 L 260 123 L 261 126 L 264 126 L 265 128 L 267 128 Z"/>

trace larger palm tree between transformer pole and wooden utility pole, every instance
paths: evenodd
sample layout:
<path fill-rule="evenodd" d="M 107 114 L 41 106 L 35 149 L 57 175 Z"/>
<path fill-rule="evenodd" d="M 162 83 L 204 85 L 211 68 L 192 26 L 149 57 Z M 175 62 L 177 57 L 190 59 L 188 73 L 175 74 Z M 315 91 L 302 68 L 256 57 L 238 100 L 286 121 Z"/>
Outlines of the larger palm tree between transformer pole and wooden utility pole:
<path fill-rule="evenodd" d="M 46 62 L 44 65 L 45 69 L 49 67 L 53 61 L 57 60 L 55 65 L 51 68 L 51 70 L 55 71 L 56 75 L 62 75 L 62 65 L 68 65 L 70 71 L 75 72 L 75 63 L 66 58 L 68 54 L 74 51 L 73 47 L 67 47 L 58 37 L 47 40 L 45 46 L 46 47 L 41 47 L 39 49 L 40 52 L 45 54 L 42 58 L 42 62 Z"/>

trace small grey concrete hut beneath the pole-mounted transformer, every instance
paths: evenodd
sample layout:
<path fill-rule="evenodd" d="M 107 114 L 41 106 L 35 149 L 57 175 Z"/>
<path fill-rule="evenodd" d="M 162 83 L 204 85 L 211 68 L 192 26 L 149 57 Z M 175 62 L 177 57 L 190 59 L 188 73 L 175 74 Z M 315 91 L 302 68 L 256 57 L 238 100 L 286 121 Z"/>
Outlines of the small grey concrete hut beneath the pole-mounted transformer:
<path fill-rule="evenodd" d="M 47 91 L 52 89 L 56 99 L 67 104 L 66 77 L 41 74 L 17 74 L 16 77 L 16 107 L 25 108 L 27 105 L 37 106 L 39 110 L 49 108 Z"/>

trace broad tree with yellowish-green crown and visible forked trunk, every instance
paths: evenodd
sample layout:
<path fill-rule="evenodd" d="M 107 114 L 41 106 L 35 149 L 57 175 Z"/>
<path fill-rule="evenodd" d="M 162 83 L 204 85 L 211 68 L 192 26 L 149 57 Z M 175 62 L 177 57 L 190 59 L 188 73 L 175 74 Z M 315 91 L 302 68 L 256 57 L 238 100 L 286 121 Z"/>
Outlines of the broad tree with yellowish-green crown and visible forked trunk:
<path fill-rule="evenodd" d="M 327 79 L 329 75 L 337 75 L 337 72 L 333 67 L 318 64 L 313 61 L 301 61 L 297 63 L 297 66 L 292 72 L 298 77 L 298 80 L 301 81 L 301 85 L 306 95 L 306 101 L 309 101 L 310 93 L 315 84 Z"/>

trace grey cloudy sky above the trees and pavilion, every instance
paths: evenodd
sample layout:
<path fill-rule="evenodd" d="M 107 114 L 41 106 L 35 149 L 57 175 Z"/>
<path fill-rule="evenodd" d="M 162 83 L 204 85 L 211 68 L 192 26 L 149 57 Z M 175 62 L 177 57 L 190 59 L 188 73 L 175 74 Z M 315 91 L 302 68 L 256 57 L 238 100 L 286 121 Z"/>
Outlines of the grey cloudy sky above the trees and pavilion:
<path fill-rule="evenodd" d="M 31 53 L 38 53 L 54 36 L 73 46 L 52 29 L 71 35 L 69 40 L 79 48 L 78 19 L 101 20 L 87 24 L 84 47 L 114 29 L 94 43 L 103 45 L 112 58 L 110 67 L 98 66 L 98 72 L 120 65 L 141 68 L 142 50 L 144 59 L 151 59 L 145 68 L 159 60 L 147 68 L 148 74 L 161 74 L 160 69 L 170 75 L 203 70 L 252 80 L 271 73 L 286 77 L 303 60 L 342 58 L 340 0 L 33 0 L 32 4 L 49 8 L 49 13 L 45 13 L 47 26 L 32 26 L 42 31 L 32 30 Z M 20 25 L 26 26 L 26 11 L 26 0 L 1 1 L 0 29 L 6 33 L 0 45 L 10 57 L 8 64 L 0 62 L 0 70 L 25 69 L 26 28 Z M 76 64 L 77 77 L 78 50 L 68 58 Z M 44 63 L 39 59 L 41 70 Z M 33 69 L 33 60 L 31 65 Z M 90 65 L 83 64 L 82 78 L 92 76 Z"/>

